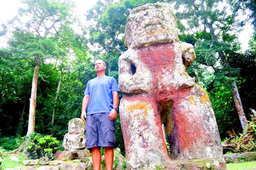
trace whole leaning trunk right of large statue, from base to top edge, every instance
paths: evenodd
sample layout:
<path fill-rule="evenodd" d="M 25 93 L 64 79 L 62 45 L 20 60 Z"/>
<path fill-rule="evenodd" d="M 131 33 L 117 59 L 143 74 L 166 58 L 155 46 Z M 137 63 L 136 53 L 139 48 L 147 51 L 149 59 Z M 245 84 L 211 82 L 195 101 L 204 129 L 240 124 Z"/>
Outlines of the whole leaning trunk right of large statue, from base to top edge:
<path fill-rule="evenodd" d="M 200 0 L 200 1 L 201 1 L 202 10 L 205 11 L 205 9 L 204 9 L 204 0 Z M 210 29 L 211 39 L 217 41 L 217 38 L 216 38 L 215 33 L 214 33 L 213 26 L 210 22 L 208 22 L 207 18 L 204 18 L 204 25 Z M 220 55 L 220 58 L 223 62 L 223 65 L 228 68 L 229 67 L 228 66 L 228 60 L 225 57 L 223 51 L 219 51 L 219 55 Z M 229 72 L 228 72 L 228 77 L 230 77 Z M 234 102 L 235 102 L 235 105 L 236 105 L 236 110 L 237 110 L 237 113 L 239 115 L 241 126 L 242 126 L 243 129 L 245 129 L 245 125 L 247 124 L 247 119 L 245 117 L 245 112 L 243 110 L 243 105 L 241 103 L 240 95 L 239 95 L 238 90 L 237 90 L 236 82 L 233 81 L 232 85 L 234 86 L 234 88 L 232 88 L 232 94 L 233 94 L 233 99 L 234 99 Z"/>

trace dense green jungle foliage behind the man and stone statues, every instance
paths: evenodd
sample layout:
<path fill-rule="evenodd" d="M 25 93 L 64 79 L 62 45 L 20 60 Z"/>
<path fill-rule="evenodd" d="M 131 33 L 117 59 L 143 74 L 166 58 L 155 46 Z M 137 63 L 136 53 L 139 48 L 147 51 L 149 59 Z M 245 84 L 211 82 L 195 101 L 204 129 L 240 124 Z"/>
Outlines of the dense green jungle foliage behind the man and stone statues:
<path fill-rule="evenodd" d="M 255 4 L 252 0 L 227 2 L 222 8 L 221 0 L 98 0 L 87 11 L 89 24 L 80 26 L 81 34 L 72 25 L 85 21 L 73 16 L 71 0 L 22 2 L 25 7 L 0 27 L 1 36 L 11 35 L 8 46 L 0 48 L 2 139 L 37 132 L 62 140 L 68 122 L 80 117 L 86 83 L 96 75 L 93 60 L 105 60 L 106 75 L 118 80 L 118 58 L 127 50 L 126 18 L 135 7 L 155 2 L 173 5 L 180 40 L 195 48 L 197 58 L 187 72 L 208 92 L 221 138 L 232 129 L 242 132 L 235 93 L 251 121 L 250 108 L 256 108 L 256 36 L 243 52 L 237 33 L 245 22 L 255 26 L 255 5 L 248 5 Z M 246 9 L 249 18 L 238 20 L 237 11 Z M 124 151 L 119 119 L 116 131 L 116 147 Z M 37 152 L 35 145 L 30 151 Z"/>

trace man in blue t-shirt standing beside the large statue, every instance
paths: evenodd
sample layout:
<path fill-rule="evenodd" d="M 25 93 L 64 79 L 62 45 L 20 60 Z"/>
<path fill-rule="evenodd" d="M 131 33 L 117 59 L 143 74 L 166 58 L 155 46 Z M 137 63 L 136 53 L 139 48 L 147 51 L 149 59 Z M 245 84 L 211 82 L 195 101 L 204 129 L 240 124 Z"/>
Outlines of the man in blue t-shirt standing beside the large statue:
<path fill-rule="evenodd" d="M 95 61 L 97 77 L 87 82 L 82 102 L 81 119 L 85 122 L 86 146 L 91 150 L 94 170 L 100 170 L 100 147 L 105 148 L 107 170 L 112 170 L 114 158 L 114 120 L 117 117 L 119 88 L 113 77 L 105 75 L 105 69 L 104 61 Z"/>

